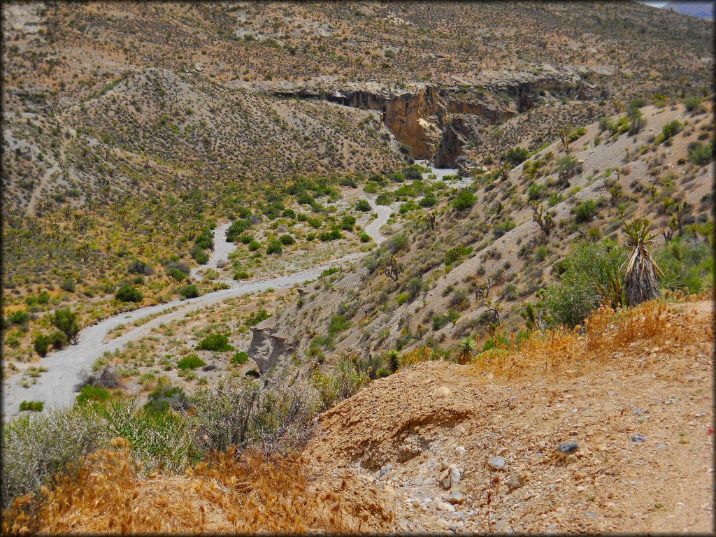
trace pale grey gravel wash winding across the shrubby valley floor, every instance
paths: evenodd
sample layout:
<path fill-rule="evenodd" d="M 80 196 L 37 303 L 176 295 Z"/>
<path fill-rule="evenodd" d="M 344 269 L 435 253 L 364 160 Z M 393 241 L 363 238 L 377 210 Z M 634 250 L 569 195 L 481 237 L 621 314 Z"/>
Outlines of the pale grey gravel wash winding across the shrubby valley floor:
<path fill-rule="evenodd" d="M 387 223 L 388 218 L 392 214 L 392 208 L 386 205 L 376 205 L 374 197 L 367 196 L 369 203 L 374 208 L 378 217 L 366 226 L 366 233 L 377 243 L 385 241 L 380 233 L 380 228 Z M 226 230 L 229 224 L 218 226 L 214 233 L 215 251 L 212 253 L 209 262 L 206 265 L 198 267 L 192 271 L 192 276 L 200 279 L 198 272 L 207 268 L 216 268 L 216 262 L 226 259 L 228 253 L 234 246 L 226 243 Z M 92 364 L 102 357 L 105 352 L 114 352 L 121 349 L 128 342 L 145 336 L 155 326 L 162 323 L 180 319 L 190 311 L 216 304 L 227 299 L 233 299 L 236 296 L 242 296 L 251 293 L 259 293 L 267 289 L 289 289 L 296 284 L 303 284 L 305 281 L 316 279 L 321 272 L 329 269 L 331 266 L 349 261 L 356 261 L 362 258 L 365 253 L 352 253 L 348 256 L 326 261 L 311 269 L 294 272 L 286 276 L 276 278 L 258 279 L 253 281 L 227 281 L 231 287 L 221 289 L 213 293 L 199 296 L 196 299 L 175 300 L 166 302 L 165 304 L 156 304 L 155 306 L 146 306 L 144 308 L 135 309 L 134 311 L 117 314 L 108 317 L 103 321 L 92 326 L 87 326 L 79 334 L 79 342 L 70 345 L 66 349 L 47 355 L 41 359 L 37 366 L 47 368 L 42 376 L 37 379 L 37 383 L 25 388 L 20 385 L 21 374 L 16 374 L 6 379 L 3 383 L 4 388 L 4 405 L 2 420 L 6 422 L 19 412 L 19 405 L 22 401 L 44 401 L 44 409 L 49 410 L 57 407 L 71 405 L 76 396 L 74 386 L 84 377 L 85 372 L 90 372 Z M 171 310 L 171 311 L 167 311 Z M 162 314 L 166 311 L 165 314 Z M 120 337 L 105 341 L 105 337 L 120 324 L 129 324 L 139 319 L 145 319 L 147 316 L 155 316 L 141 326 L 136 326 L 129 332 L 122 334 Z"/>

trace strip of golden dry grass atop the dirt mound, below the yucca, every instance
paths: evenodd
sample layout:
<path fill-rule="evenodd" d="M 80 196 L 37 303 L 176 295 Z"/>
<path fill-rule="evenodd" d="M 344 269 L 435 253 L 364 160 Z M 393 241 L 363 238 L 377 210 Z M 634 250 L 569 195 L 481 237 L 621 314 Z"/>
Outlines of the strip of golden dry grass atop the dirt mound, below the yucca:
<path fill-rule="evenodd" d="M 643 354 L 647 347 L 665 349 L 701 341 L 704 333 L 713 338 L 710 322 L 697 321 L 694 312 L 662 301 L 619 311 L 602 306 L 574 330 L 559 327 L 534 332 L 519 349 L 495 348 L 481 353 L 473 362 L 473 371 L 508 379 L 528 372 L 578 374 L 627 354 Z"/>

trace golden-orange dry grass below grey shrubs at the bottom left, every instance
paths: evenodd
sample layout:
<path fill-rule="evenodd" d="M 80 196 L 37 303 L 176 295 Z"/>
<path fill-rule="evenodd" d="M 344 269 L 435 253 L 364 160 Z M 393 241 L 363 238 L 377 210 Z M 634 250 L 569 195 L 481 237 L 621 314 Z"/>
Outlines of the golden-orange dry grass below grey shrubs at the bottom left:
<path fill-rule="evenodd" d="M 18 498 L 3 533 L 306 533 L 386 531 L 392 513 L 361 501 L 349 476 L 309 478 L 306 460 L 231 449 L 184 475 L 140 477 L 124 439 L 74 475 Z M 334 476 L 335 477 L 335 476 Z M 364 499 L 364 498 L 363 498 Z M 379 498 L 377 498 L 379 500 Z M 364 504 L 364 505 L 363 505 Z M 374 518 L 369 521 L 369 518 Z"/>

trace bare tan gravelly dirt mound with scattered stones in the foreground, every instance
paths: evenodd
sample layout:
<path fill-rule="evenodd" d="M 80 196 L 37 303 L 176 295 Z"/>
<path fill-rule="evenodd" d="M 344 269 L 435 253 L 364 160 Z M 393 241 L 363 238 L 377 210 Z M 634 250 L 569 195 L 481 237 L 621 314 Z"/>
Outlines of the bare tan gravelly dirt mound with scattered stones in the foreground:
<path fill-rule="evenodd" d="M 398 531 L 710 531 L 712 305 L 684 309 L 579 371 L 411 367 L 326 412 L 306 453 L 395 498 Z"/>

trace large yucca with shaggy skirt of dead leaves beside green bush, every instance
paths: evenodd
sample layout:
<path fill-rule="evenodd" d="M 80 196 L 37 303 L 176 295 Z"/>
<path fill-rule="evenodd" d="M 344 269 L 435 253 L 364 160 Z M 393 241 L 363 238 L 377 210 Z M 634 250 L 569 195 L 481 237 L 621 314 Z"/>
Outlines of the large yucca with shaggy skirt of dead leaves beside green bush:
<path fill-rule="evenodd" d="M 629 258 L 621 268 L 624 270 L 624 296 L 627 306 L 636 306 L 644 301 L 657 299 L 659 281 L 664 276 L 657 263 L 649 256 L 647 244 L 654 241 L 651 226 L 646 218 L 624 222 L 622 231 L 627 235 L 627 246 L 631 248 Z"/>

